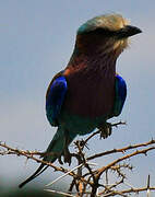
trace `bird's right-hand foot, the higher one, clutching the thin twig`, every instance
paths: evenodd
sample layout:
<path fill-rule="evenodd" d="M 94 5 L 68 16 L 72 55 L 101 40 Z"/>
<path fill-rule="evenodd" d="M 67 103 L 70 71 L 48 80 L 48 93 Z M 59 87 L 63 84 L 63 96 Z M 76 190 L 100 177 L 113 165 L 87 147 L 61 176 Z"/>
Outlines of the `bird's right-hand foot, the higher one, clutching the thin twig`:
<path fill-rule="evenodd" d="M 100 131 L 100 138 L 108 138 L 112 132 L 112 125 L 110 123 L 105 123 L 100 127 L 98 127 Z"/>

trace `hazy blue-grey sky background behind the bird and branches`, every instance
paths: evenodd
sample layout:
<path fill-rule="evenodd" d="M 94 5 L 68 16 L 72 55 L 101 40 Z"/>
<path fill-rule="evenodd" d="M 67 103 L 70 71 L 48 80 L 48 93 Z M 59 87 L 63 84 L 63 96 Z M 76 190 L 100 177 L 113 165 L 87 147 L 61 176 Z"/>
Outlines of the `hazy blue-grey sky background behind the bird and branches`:
<path fill-rule="evenodd" d="M 90 141 L 87 154 L 155 138 L 154 8 L 153 0 L 150 3 L 141 0 L 1 0 L 0 140 L 19 149 L 46 150 L 56 131 L 45 116 L 47 86 L 52 77 L 67 66 L 78 27 L 93 16 L 111 12 L 121 13 L 143 31 L 131 38 L 130 47 L 117 61 L 117 71 L 128 84 L 128 99 L 121 116 L 115 121 L 121 119 L 128 125 L 114 129 L 106 140 L 96 137 Z M 97 160 L 99 165 L 107 162 Z M 130 162 L 135 166 L 129 174 L 130 184 L 143 186 L 151 174 L 151 184 L 155 185 L 153 152 L 147 158 L 139 155 Z M 0 195 L 17 190 L 17 184 L 37 166 L 36 162 L 22 157 L 0 157 Z M 59 173 L 49 167 L 20 194 L 24 194 L 28 186 L 43 189 L 58 176 Z M 67 183 L 62 179 L 53 187 L 65 190 Z"/>

